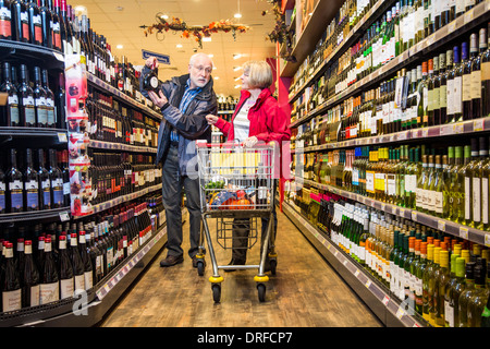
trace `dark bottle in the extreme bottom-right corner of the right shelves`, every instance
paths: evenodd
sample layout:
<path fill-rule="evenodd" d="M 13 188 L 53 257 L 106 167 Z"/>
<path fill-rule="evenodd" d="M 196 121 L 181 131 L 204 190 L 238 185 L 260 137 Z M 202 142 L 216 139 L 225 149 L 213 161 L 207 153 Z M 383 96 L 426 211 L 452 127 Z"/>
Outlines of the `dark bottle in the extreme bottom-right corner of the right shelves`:
<path fill-rule="evenodd" d="M 467 327 L 481 327 L 482 325 L 482 314 L 490 296 L 490 289 L 486 287 L 485 282 L 487 277 L 487 265 L 485 263 L 485 258 L 479 258 L 475 266 L 475 290 L 469 296 L 467 304 Z"/>

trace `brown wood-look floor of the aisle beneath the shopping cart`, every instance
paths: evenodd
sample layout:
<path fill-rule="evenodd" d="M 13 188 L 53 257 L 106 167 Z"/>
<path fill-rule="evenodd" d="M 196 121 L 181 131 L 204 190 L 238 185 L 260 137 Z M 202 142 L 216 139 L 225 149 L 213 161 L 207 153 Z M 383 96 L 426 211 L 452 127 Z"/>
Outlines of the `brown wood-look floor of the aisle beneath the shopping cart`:
<path fill-rule="evenodd" d="M 258 301 L 256 269 L 224 273 L 221 303 L 215 304 L 210 261 L 204 277 L 191 260 L 171 268 L 157 257 L 137 285 L 102 323 L 102 327 L 380 327 L 382 324 L 303 237 L 278 213 L 278 270 L 267 284 L 266 302 Z M 211 225 L 212 226 L 212 225 Z M 184 236 L 188 238 L 188 226 Z M 212 233 L 212 230 L 211 230 Z M 184 250 L 188 245 L 184 241 Z M 231 251 L 215 243 L 218 264 Z M 258 263 L 259 245 L 248 263 Z"/>

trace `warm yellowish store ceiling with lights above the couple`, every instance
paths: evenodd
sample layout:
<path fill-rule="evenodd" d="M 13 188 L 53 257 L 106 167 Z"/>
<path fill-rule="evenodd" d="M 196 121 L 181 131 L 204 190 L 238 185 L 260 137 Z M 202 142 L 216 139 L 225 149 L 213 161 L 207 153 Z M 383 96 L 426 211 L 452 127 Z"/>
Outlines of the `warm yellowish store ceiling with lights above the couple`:
<path fill-rule="evenodd" d="M 144 64 L 142 49 L 170 56 L 170 65 L 160 65 L 159 77 L 170 79 L 187 73 L 188 59 L 195 52 L 213 55 L 216 70 L 215 92 L 223 96 L 238 96 L 241 81 L 235 81 L 241 71 L 233 71 L 250 59 L 264 60 L 275 56 L 275 44 L 267 40 L 267 34 L 274 27 L 275 17 L 272 11 L 262 15 L 262 11 L 271 10 L 267 0 L 74 0 L 69 3 L 76 8 L 87 9 L 90 26 L 97 33 L 107 37 L 112 47 L 112 55 L 126 56 L 134 65 Z M 242 19 L 234 14 L 242 13 Z M 78 10 L 76 12 L 79 13 Z M 187 25 L 208 25 L 221 20 L 233 20 L 235 23 L 250 27 L 246 33 L 237 33 L 233 39 L 232 33 L 211 35 L 210 43 L 198 47 L 193 36 L 183 38 L 181 32 L 163 32 L 145 37 L 139 26 L 150 26 L 157 23 L 157 13 L 167 14 L 168 22 L 179 17 Z M 181 44 L 182 48 L 176 48 Z M 122 45 L 122 49 L 117 46 Z M 234 55 L 242 58 L 234 59 Z M 219 79 L 217 79 L 219 77 Z"/>

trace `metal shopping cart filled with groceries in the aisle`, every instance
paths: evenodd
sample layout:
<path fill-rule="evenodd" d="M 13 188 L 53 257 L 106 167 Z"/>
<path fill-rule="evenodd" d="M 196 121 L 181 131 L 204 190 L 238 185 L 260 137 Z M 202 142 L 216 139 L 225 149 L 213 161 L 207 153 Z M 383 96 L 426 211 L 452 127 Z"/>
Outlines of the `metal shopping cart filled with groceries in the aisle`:
<path fill-rule="evenodd" d="M 197 254 L 197 272 L 204 275 L 206 239 L 212 265 L 209 278 L 215 302 L 221 299 L 220 269 L 253 269 L 258 274 L 259 301 L 266 298 L 266 261 L 275 275 L 277 254 L 274 252 L 273 227 L 273 172 L 274 145 L 244 147 L 235 144 L 197 143 L 197 161 L 200 186 L 201 234 Z M 223 249 L 252 249 L 258 236 L 258 219 L 269 218 L 265 233 L 261 233 L 261 252 L 258 265 L 218 265 L 209 230 L 208 219 L 216 219 L 217 242 Z M 245 234 L 236 234 L 240 227 Z M 264 230 L 261 230 L 264 231 Z M 240 243 L 237 240 L 241 239 Z"/>

